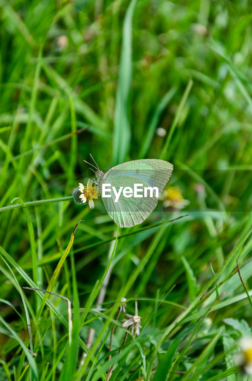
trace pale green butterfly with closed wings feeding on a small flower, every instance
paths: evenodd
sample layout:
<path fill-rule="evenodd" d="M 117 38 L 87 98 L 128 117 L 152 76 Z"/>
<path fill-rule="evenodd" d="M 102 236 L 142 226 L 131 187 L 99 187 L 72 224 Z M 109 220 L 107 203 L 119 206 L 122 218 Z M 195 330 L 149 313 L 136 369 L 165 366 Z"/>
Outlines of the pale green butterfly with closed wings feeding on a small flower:
<path fill-rule="evenodd" d="M 94 179 L 93 181 L 98 186 L 108 215 L 120 227 L 132 227 L 141 224 L 155 209 L 158 203 L 155 192 L 153 197 L 150 197 L 150 191 L 147 191 L 146 197 L 139 198 L 125 197 L 121 192 L 118 201 L 115 202 L 114 192 L 111 192 L 110 198 L 102 197 L 102 184 L 111 184 L 111 188 L 115 187 L 118 194 L 120 187 L 133 189 L 134 184 L 140 183 L 143 184 L 143 188 L 157 187 L 160 195 L 171 177 L 173 165 L 159 159 L 142 159 L 115 165 L 105 173 L 100 171 L 98 166 L 97 169 L 97 181 Z"/>

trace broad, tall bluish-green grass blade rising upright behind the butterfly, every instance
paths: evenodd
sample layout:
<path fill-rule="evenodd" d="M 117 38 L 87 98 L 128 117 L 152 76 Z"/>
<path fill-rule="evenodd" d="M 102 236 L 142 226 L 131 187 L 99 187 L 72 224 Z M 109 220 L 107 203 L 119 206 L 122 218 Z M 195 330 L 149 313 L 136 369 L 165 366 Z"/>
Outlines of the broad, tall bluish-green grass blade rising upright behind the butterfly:
<path fill-rule="evenodd" d="M 123 22 L 123 42 L 116 90 L 115 122 L 113 131 L 113 163 L 122 163 L 129 150 L 131 129 L 128 117 L 129 93 L 132 77 L 132 19 L 136 0 L 131 0 Z"/>

